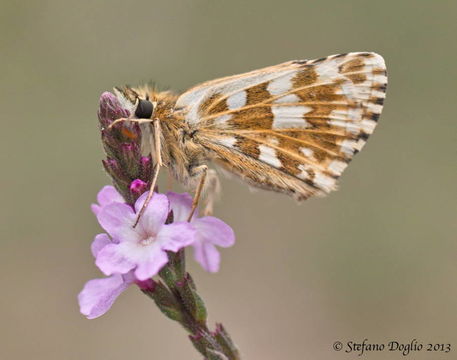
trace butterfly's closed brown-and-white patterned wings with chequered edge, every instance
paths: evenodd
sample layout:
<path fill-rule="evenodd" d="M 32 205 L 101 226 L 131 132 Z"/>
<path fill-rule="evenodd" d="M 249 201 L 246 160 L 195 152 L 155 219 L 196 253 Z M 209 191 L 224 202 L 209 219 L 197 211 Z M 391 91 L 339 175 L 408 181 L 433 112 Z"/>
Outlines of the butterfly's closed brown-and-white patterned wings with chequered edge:
<path fill-rule="evenodd" d="M 376 127 L 384 60 L 349 53 L 214 80 L 177 106 L 210 155 L 251 184 L 325 194 Z"/>

